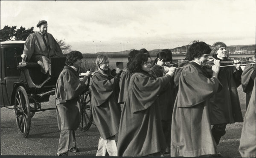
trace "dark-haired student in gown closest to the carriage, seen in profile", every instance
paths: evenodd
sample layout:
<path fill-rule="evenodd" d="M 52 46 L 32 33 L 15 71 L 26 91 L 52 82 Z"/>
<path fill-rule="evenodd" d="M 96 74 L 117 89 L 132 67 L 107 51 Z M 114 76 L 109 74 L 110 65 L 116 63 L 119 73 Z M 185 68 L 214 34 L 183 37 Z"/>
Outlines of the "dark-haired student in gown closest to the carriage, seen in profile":
<path fill-rule="evenodd" d="M 79 80 L 78 68 L 81 67 L 83 56 L 79 51 L 67 54 L 66 66 L 61 71 L 55 91 L 55 106 L 58 128 L 61 130 L 57 155 L 68 155 L 68 152 L 78 152 L 75 130 L 81 121 L 79 95 L 84 91 L 87 78 L 91 71 L 85 73 Z"/>

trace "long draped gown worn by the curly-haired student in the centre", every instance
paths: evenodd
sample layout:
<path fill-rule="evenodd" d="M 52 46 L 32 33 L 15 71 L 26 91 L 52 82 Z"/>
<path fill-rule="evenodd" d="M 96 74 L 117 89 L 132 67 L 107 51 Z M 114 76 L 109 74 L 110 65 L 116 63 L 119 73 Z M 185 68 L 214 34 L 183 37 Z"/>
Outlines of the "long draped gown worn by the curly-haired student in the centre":
<path fill-rule="evenodd" d="M 171 76 L 154 79 L 149 73 L 131 76 L 117 142 L 118 156 L 146 156 L 165 150 L 158 95 Z"/>

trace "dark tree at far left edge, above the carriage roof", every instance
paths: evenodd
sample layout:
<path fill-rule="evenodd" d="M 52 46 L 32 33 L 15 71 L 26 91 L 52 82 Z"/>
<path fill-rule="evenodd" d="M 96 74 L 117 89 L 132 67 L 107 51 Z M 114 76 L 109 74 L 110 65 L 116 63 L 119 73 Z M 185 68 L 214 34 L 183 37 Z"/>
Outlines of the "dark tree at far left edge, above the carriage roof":
<path fill-rule="evenodd" d="M 3 29 L 0 30 L 0 41 L 9 41 L 15 36 L 16 33 L 16 26 L 4 26 Z"/>

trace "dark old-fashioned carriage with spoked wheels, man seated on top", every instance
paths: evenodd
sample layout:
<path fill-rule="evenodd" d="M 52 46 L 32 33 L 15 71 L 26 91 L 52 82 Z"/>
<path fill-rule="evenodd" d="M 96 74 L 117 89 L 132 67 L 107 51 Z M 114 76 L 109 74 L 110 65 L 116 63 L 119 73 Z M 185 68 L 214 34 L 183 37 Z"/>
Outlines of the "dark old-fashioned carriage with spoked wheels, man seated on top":
<path fill-rule="evenodd" d="M 0 106 L 14 110 L 18 131 L 28 137 L 31 118 L 35 112 L 55 110 L 43 108 L 41 103 L 49 102 L 55 94 L 59 74 L 65 65 L 65 57 L 49 58 L 49 74 L 41 73 L 38 63 L 22 62 L 25 41 L 6 41 L 0 43 Z M 91 111 L 90 80 L 80 95 L 81 130 L 88 130 L 93 123 Z"/>

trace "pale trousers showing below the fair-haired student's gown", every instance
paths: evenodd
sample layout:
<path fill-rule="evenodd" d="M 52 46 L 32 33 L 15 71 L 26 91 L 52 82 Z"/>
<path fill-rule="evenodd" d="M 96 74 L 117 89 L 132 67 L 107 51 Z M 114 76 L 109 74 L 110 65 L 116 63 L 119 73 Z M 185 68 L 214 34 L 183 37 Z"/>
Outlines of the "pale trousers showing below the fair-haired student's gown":
<path fill-rule="evenodd" d="M 106 156 L 107 153 L 109 156 L 117 156 L 115 136 L 107 139 L 99 138 L 96 156 Z"/>

